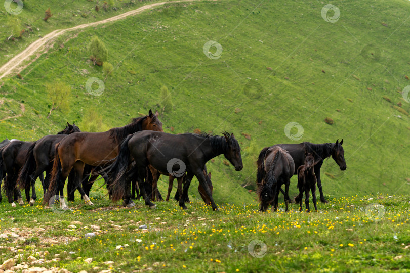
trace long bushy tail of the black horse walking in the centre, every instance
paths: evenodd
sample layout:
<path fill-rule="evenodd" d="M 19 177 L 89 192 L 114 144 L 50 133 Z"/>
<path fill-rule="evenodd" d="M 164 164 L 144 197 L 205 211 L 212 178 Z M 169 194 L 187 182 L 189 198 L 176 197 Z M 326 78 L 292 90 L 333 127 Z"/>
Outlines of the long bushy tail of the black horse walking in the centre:
<path fill-rule="evenodd" d="M 117 157 L 107 169 L 104 169 L 106 173 L 109 173 L 107 179 L 107 185 L 109 185 L 109 191 L 111 192 L 111 200 L 113 202 L 121 200 L 127 189 L 127 168 L 130 163 L 130 149 L 128 148 L 128 141 L 133 137 L 132 134 L 122 141 L 119 147 Z"/>

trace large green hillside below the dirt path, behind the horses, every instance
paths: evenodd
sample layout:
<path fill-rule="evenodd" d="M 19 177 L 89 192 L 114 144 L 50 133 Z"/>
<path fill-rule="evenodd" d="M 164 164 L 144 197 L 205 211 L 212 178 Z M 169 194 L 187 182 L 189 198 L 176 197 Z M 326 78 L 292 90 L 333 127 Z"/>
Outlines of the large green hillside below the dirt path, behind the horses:
<path fill-rule="evenodd" d="M 216 133 L 228 130 L 242 143 L 242 156 L 247 158 L 243 171 L 234 172 L 222 164 L 222 158 L 208 166 L 220 202 L 252 200 L 239 185 L 254 179 L 252 161 L 261 148 L 342 138 L 348 169 L 341 172 L 332 159 L 325 162 L 323 172 L 334 176 L 322 175 L 325 193 L 362 196 L 408 191 L 409 118 L 382 99 L 402 101 L 409 111 L 409 104 L 397 92 L 409 84 L 404 75 L 410 60 L 400 50 L 400 44 L 404 47 L 410 41 L 405 32 L 409 23 L 404 21 L 408 3 L 340 3 L 342 16 L 333 24 L 321 18 L 322 5 L 178 4 L 88 29 L 68 41 L 61 37 L 53 50 L 22 72 L 23 80 L 5 80 L 1 92 L 6 99 L 24 99 L 26 112 L 17 120 L 2 122 L 0 133 L 36 139 L 59 130 L 66 120 L 80 122 L 90 107 L 109 126 L 120 126 L 137 112 L 158 108 L 159 89 L 166 85 L 175 105 L 172 113 L 161 116 L 166 131 L 171 126 L 174 133 L 195 128 Z M 86 47 L 92 35 L 106 44 L 108 61 L 116 67 L 100 97 L 88 95 L 84 87 L 89 77 L 103 78 L 101 68 L 88 61 Z M 221 43 L 221 58 L 204 56 L 202 47 L 208 40 Z M 377 62 L 362 57 L 367 44 L 380 49 Z M 56 79 L 73 88 L 71 111 L 53 113 L 47 120 L 45 82 Z M 255 82 L 262 86 L 257 99 L 244 92 Z M 237 108 L 239 113 L 235 113 Z M 325 117 L 333 118 L 335 124 L 324 123 Z M 304 127 L 300 141 L 289 140 L 283 133 L 290 121 Z M 251 134 L 252 141 L 241 133 Z M 248 148 L 251 144 L 253 149 Z M 292 193 L 295 188 L 291 186 Z"/>

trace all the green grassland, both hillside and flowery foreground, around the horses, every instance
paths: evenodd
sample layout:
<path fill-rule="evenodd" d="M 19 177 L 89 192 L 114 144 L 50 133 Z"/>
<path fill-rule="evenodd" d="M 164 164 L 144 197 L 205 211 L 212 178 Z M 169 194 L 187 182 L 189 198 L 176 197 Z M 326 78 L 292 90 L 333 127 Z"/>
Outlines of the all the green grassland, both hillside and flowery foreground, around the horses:
<path fill-rule="evenodd" d="M 153 2 L 114 1 L 98 12 L 96 3 L 25 0 L 17 19 L 1 10 L 0 65 L 55 29 Z M 222 156 L 207 164 L 217 212 L 200 200 L 196 179 L 186 211 L 175 201 L 157 202 L 155 210 L 142 201 L 122 208 L 98 185 L 90 194 L 95 206 L 76 195 L 66 212 L 40 205 L 41 194 L 34 207 L 11 208 L 4 199 L 0 262 L 15 258 L 28 267 L 73 272 L 408 271 L 410 103 L 403 91 L 410 85 L 410 3 L 332 2 L 340 11 L 336 22 L 322 17 L 325 4 L 169 3 L 66 33 L 24 69 L 0 79 L 2 140 L 35 141 L 67 121 L 103 131 L 152 109 L 169 133 L 233 132 L 243 158 L 240 172 Z M 54 15 L 44 22 L 48 7 Z M 22 38 L 8 40 L 10 20 L 28 30 Z M 100 96 L 86 87 L 90 78 L 105 77 L 90 61 L 95 35 L 114 66 Z M 69 107 L 47 118 L 46 85 L 56 81 L 71 87 Z M 168 111 L 163 86 L 171 94 Z M 285 213 L 283 203 L 279 212 L 258 212 L 255 161 L 263 147 L 337 139 L 344 140 L 347 169 L 325 160 L 321 178 L 329 204 L 310 213 L 296 204 Z M 168 178 L 161 176 L 158 186 L 164 196 Z M 36 187 L 41 193 L 39 181 Z M 290 192 L 297 193 L 296 177 Z M 98 234 L 85 238 L 90 232 Z"/>

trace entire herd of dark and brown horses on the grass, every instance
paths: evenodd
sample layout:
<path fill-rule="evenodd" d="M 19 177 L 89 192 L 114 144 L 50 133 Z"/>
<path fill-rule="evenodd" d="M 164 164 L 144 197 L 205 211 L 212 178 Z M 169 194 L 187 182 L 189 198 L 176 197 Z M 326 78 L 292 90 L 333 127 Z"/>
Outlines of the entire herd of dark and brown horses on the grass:
<path fill-rule="evenodd" d="M 265 211 L 269 205 L 277 210 L 278 195 L 282 192 L 288 211 L 288 203 L 292 202 L 289 186 L 293 175 L 298 175 L 299 195 L 295 201 L 299 202 L 301 210 L 305 192 L 306 210 L 309 211 L 309 191 L 312 191 L 317 210 L 316 184 L 320 201 L 327 203 L 321 187 L 320 167 L 324 159 L 332 157 L 342 171 L 346 169 L 342 144 L 343 140 L 324 144 L 277 144 L 264 148 L 257 161 L 260 210 Z M 208 173 L 206 163 L 221 154 L 236 171 L 242 170 L 240 146 L 233 133 L 223 132 L 222 136 L 165 133 L 158 112 L 149 110 L 148 115 L 133 118 L 126 126 L 105 132 L 81 132 L 75 124 L 67 122 L 61 132 L 46 135 L 35 142 L 6 139 L 0 143 L 0 184 L 4 179 L 2 190 L 13 207 L 16 207 L 14 201 L 24 204 L 22 189 L 25 190 L 26 201 L 32 206 L 37 198 L 35 181 L 39 178 L 43 185 L 43 204 L 59 202 L 60 207 L 66 210 L 68 206 L 63 190 L 67 178 L 68 201 L 74 200 L 74 192 L 78 190 L 81 199 L 93 205 L 89 198 L 90 190 L 101 176 L 113 202 L 122 200 L 122 205 L 133 207 L 137 192 L 137 198 L 142 196 L 145 205 L 155 208 L 152 201 L 162 200 L 157 189 L 157 181 L 162 174 L 169 176 L 166 200 L 170 198 L 176 178 L 178 190 L 174 198 L 186 209 L 188 189 L 195 176 L 203 201 L 217 210 L 212 197 L 211 173 Z M 174 164 L 170 170 L 170 162 L 175 160 L 182 164 Z M 283 184 L 285 190 L 281 189 Z"/>

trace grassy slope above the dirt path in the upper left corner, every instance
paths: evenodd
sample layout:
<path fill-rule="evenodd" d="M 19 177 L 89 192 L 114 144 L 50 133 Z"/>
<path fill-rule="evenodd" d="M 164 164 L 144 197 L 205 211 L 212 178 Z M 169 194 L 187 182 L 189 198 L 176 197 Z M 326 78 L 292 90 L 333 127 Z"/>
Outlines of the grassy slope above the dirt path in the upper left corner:
<path fill-rule="evenodd" d="M 23 10 L 16 16 L 10 15 L 2 6 L 0 10 L 0 65 L 13 58 L 14 55 L 22 51 L 31 42 L 55 29 L 69 28 L 100 21 L 155 2 L 159 1 L 116 0 L 113 7 L 109 7 L 107 11 L 104 11 L 102 8 L 103 1 L 100 1 L 100 10 L 96 12 L 96 1 L 73 0 L 62 2 L 56 0 L 26 0 L 23 2 Z M 17 7 L 16 4 L 12 5 Z M 50 8 L 53 16 L 48 22 L 45 22 L 43 18 L 48 8 Z M 13 17 L 12 21 L 10 17 Z M 15 18 L 17 18 L 17 21 L 15 21 Z M 12 33 L 10 24 L 16 22 L 21 26 L 21 29 L 24 29 L 26 32 L 23 37 L 18 40 L 7 40 Z"/>

